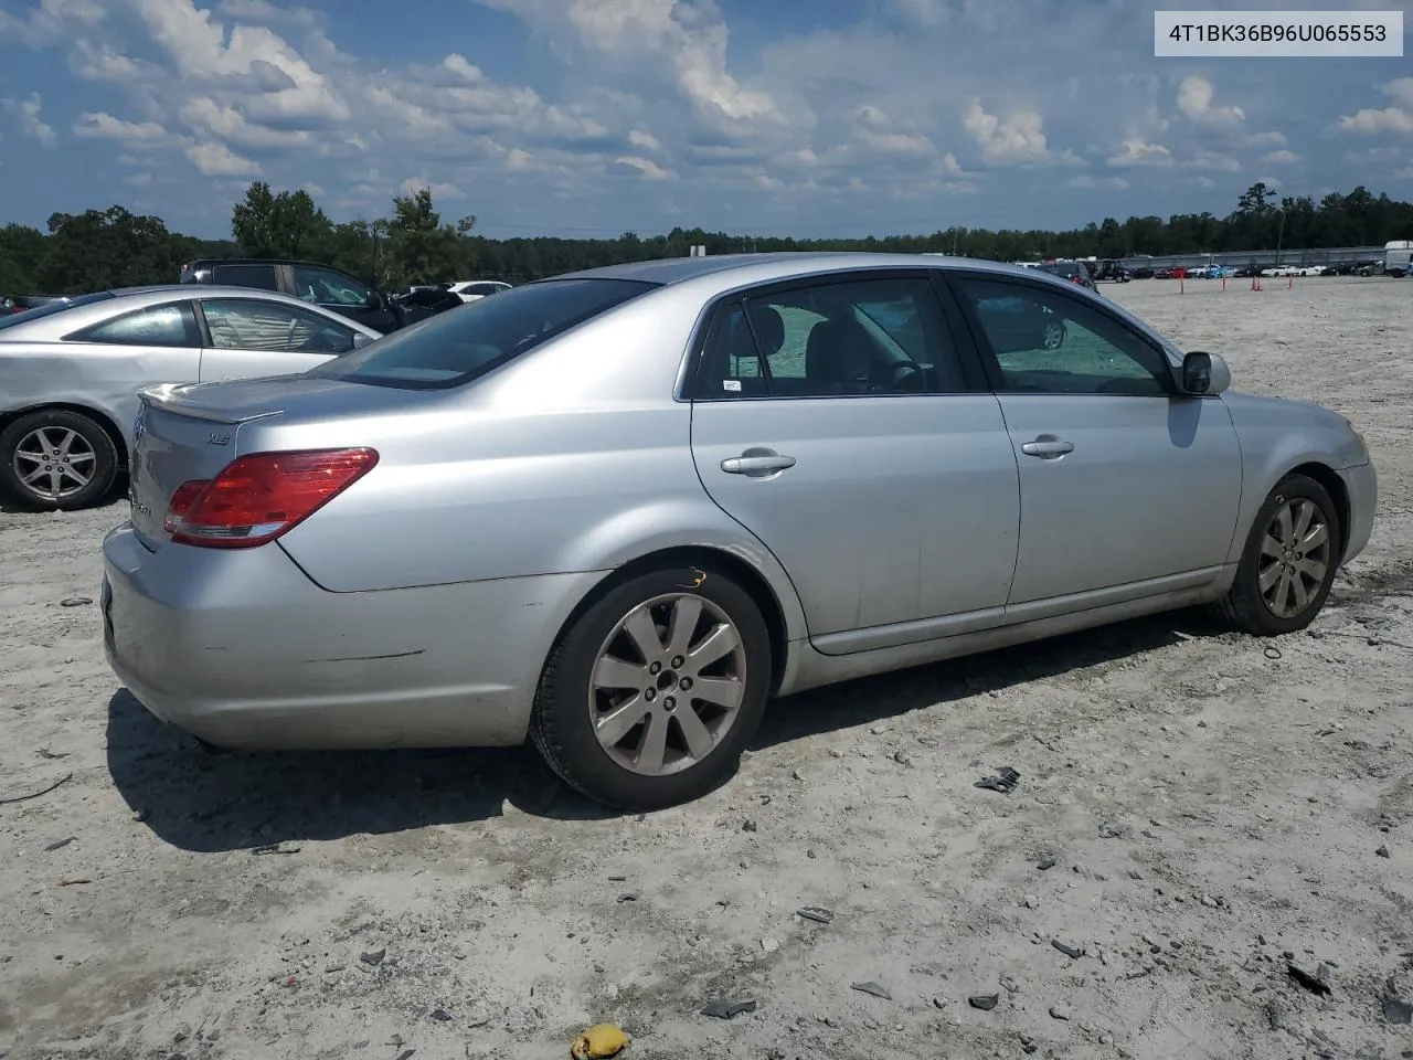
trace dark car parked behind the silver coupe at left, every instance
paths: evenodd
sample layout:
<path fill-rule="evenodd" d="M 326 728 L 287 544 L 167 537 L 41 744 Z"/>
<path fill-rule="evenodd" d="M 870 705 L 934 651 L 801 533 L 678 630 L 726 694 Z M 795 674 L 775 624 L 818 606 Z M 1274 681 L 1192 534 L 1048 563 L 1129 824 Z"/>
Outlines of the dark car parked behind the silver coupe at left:
<path fill-rule="evenodd" d="M 249 257 L 188 261 L 181 267 L 181 283 L 280 291 L 384 334 L 462 304 L 449 291 L 390 297 L 345 271 L 312 261 Z"/>

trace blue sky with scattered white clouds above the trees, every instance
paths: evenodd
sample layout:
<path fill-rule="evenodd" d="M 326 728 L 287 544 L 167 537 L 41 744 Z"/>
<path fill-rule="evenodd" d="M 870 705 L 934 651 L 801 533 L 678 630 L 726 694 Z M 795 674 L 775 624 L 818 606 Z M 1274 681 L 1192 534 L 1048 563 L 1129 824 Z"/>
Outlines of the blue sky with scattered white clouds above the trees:
<path fill-rule="evenodd" d="M 1338 7 L 1413 30 L 1413 0 Z M 0 0 L 0 222 L 117 202 L 227 236 L 252 179 L 339 220 L 427 185 L 487 236 L 1225 215 L 1258 179 L 1413 199 L 1413 49 L 1157 59 L 1153 10 Z"/>

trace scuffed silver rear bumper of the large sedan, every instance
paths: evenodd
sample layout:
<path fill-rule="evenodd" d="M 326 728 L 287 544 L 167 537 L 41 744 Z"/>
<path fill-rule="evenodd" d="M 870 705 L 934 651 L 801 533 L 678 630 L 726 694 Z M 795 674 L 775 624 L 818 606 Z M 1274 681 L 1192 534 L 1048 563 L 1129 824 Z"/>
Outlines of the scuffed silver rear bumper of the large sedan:
<path fill-rule="evenodd" d="M 276 546 L 103 541 L 103 643 L 154 715 L 247 749 L 524 741 L 555 635 L 602 574 L 326 592 Z"/>

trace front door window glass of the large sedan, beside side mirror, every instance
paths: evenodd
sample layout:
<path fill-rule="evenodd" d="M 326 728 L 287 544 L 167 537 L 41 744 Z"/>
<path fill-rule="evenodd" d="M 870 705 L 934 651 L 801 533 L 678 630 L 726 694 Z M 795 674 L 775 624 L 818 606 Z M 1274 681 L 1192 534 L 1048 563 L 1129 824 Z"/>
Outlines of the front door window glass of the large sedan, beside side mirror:
<path fill-rule="evenodd" d="M 957 281 L 1016 393 L 1159 396 L 1171 391 L 1167 359 L 1146 339 L 1065 291 L 1006 280 Z"/>

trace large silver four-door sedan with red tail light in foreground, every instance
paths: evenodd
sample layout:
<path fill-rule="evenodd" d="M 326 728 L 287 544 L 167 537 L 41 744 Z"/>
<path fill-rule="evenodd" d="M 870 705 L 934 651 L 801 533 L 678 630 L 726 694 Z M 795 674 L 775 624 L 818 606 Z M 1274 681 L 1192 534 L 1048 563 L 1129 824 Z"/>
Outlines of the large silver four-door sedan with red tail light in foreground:
<path fill-rule="evenodd" d="M 531 283 L 301 376 L 144 394 L 107 657 L 209 743 L 528 736 L 664 806 L 776 695 L 1195 603 L 1306 626 L 1369 538 L 1369 454 L 1229 382 L 982 261 Z"/>

